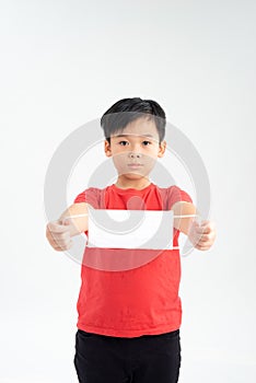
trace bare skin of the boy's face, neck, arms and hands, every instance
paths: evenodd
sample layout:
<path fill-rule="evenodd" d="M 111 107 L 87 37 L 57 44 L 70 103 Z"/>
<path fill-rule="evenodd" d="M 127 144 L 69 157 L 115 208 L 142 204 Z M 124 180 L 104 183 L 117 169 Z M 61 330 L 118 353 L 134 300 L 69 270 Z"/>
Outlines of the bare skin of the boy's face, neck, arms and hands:
<path fill-rule="evenodd" d="M 117 170 L 116 186 L 118 188 L 143 189 L 150 185 L 149 175 L 158 161 L 164 155 L 166 142 L 159 142 L 159 132 L 153 120 L 139 118 L 126 126 L 121 131 L 110 136 L 110 143 L 105 140 L 106 156 L 113 159 Z M 172 210 L 175 216 L 199 214 L 190 202 L 176 202 Z M 60 216 L 58 221 L 49 222 L 46 236 L 56 251 L 68 249 L 72 245 L 71 237 L 88 230 L 88 217 L 69 219 L 70 216 L 88 213 L 88 204 L 73 204 Z M 200 214 L 199 214 L 200 216 Z M 186 234 L 195 248 L 209 249 L 216 240 L 216 225 L 212 221 L 200 224 L 195 218 L 174 219 L 174 227 Z"/>

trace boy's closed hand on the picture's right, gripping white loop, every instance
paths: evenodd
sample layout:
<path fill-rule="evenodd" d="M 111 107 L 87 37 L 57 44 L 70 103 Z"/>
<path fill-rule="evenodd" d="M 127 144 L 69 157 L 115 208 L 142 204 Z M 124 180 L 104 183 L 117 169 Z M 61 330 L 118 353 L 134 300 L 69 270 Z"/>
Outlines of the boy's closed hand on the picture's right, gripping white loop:
<path fill-rule="evenodd" d="M 188 231 L 189 241 L 200 251 L 209 249 L 216 241 L 216 225 L 212 221 L 202 221 L 200 224 L 193 221 Z"/>

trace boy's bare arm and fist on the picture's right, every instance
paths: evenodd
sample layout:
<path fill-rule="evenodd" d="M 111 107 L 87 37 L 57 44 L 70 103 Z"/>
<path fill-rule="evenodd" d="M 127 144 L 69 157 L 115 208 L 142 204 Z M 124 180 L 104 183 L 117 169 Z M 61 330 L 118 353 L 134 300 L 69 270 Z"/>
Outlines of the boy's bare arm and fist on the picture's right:
<path fill-rule="evenodd" d="M 178 201 L 173 205 L 174 216 L 200 217 L 197 208 L 191 202 Z M 186 234 L 193 245 L 201 251 L 209 249 L 216 240 L 216 225 L 212 221 L 202 221 L 200 224 L 196 217 L 174 218 L 174 228 Z"/>

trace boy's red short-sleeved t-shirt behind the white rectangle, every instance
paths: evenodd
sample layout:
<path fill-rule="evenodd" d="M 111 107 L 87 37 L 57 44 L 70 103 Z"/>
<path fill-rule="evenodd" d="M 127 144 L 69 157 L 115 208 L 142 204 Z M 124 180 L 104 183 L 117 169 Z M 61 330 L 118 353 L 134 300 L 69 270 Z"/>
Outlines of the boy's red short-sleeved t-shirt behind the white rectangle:
<path fill-rule="evenodd" d="M 90 187 L 74 199 L 74 204 L 88 202 L 94 209 L 129 210 L 141 207 L 147 210 L 170 210 L 177 201 L 191 202 L 191 198 L 177 186 L 161 188 L 152 183 L 141 190 L 121 189 L 115 185 L 104 189 Z M 174 229 L 173 246 L 178 246 L 178 235 L 179 231 Z M 102 251 L 106 256 L 109 252 L 118 252 L 118 256 L 131 253 L 141 256 L 141 252 L 148 252 L 127 248 Z M 153 252 L 158 254 L 152 260 L 121 271 L 96 269 L 88 266 L 88 263 L 81 266 L 82 283 L 77 304 L 78 328 L 128 338 L 179 328 L 179 251 L 151 251 L 152 254 Z"/>

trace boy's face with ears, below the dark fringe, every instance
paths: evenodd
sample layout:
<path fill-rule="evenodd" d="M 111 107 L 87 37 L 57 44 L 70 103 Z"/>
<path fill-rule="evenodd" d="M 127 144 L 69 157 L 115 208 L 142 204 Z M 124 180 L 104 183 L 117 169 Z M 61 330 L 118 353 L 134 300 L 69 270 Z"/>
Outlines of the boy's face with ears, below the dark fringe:
<path fill-rule="evenodd" d="M 138 118 L 121 132 L 105 140 L 105 153 L 113 156 L 118 176 L 126 179 L 147 177 L 158 158 L 163 156 L 166 142 L 159 142 L 159 132 L 153 120 Z"/>

